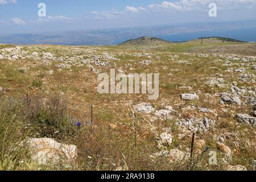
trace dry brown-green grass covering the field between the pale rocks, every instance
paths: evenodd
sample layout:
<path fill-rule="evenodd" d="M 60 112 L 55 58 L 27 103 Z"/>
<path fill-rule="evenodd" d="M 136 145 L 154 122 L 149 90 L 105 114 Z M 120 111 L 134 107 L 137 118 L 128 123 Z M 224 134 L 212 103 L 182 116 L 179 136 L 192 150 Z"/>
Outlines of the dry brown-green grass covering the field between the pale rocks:
<path fill-rule="evenodd" d="M 209 43 L 210 45 L 210 43 Z M 208 46 L 209 46 L 208 45 Z M 233 45 L 233 44 L 232 44 Z M 226 46 L 232 46 L 227 44 Z M 178 44 L 176 46 L 156 49 L 139 47 L 93 47 L 98 48 L 92 53 L 86 53 L 90 47 L 65 47 L 65 46 L 27 46 L 29 52 L 52 52 L 58 56 L 81 55 L 85 58 L 90 55 L 102 55 L 104 52 L 113 53 L 120 61 L 116 63 L 126 73 L 160 73 L 160 96 L 156 101 L 148 101 L 147 95 L 141 94 L 98 94 L 97 74 L 91 72 L 86 65 L 61 71 L 55 65 L 59 61 L 52 61 L 51 65 L 42 64 L 42 60 L 16 60 L 0 61 L 0 86 L 5 89 L 5 95 L 0 102 L 0 169 L 20 169 L 19 159 L 24 157 L 19 154 L 26 153 L 14 150 L 17 143 L 26 137 L 51 137 L 60 142 L 76 144 L 79 150 L 77 169 L 81 170 L 113 170 L 121 167 L 129 170 L 207 170 L 223 169 L 222 166 L 209 166 L 208 152 L 195 155 L 193 164 L 171 164 L 168 159 L 158 158 L 152 160 L 150 155 L 158 152 L 156 138 L 146 129 L 147 122 L 139 115 L 137 125 L 137 147 L 134 147 L 133 120 L 130 117 L 131 106 L 141 102 L 151 102 L 156 109 L 162 109 L 162 104 L 171 105 L 177 111 L 173 121 L 156 120 L 152 125 L 160 133 L 163 128 L 170 127 L 174 142 L 168 150 L 179 148 L 185 151 L 190 147 L 191 136 L 178 139 L 180 133 L 175 127 L 176 119 L 192 117 L 208 117 L 217 121 L 216 129 L 208 134 L 199 134 L 197 137 L 204 139 L 206 146 L 217 150 L 214 134 L 236 132 L 240 138 L 240 145 L 234 146 L 235 139 L 229 138 L 226 142 L 229 147 L 236 149 L 232 164 L 242 164 L 251 169 L 251 158 L 256 158 L 254 146 L 246 141 L 255 142 L 255 129 L 250 126 L 241 126 L 235 121 L 235 113 L 249 113 L 249 106 L 221 106 L 217 96 L 206 98 L 204 94 L 226 92 L 229 88 L 210 87 L 205 85 L 208 77 L 216 73 L 224 75 L 225 82 L 231 83 L 238 80 L 238 74 L 225 72 L 226 68 L 217 62 L 216 55 L 199 57 L 185 55 L 192 48 L 198 49 L 197 42 L 191 44 Z M 213 46 L 222 46 L 214 43 Z M 239 45 L 241 46 L 241 45 Z M 77 48 L 77 49 L 75 49 Z M 209 47 L 200 47 L 209 52 Z M 220 47 L 218 47 L 220 48 Z M 222 47 L 221 47 L 222 48 Z M 178 59 L 171 60 L 175 53 Z M 202 51 L 204 52 L 204 51 Z M 135 53 L 150 53 L 147 56 L 134 56 Z M 150 59 L 152 64 L 142 65 L 140 61 Z M 131 61 L 132 60 L 132 61 Z M 191 64 L 178 63 L 179 60 L 188 60 Z M 236 61 L 234 61 L 236 63 Z M 127 65 L 131 64 L 131 65 Z M 20 72 L 18 68 L 30 68 Z M 212 68 L 212 67 L 217 67 Z M 111 67 L 97 68 L 100 72 L 110 72 Z M 130 68 L 133 68 L 132 70 Z M 52 75 L 48 71 L 53 71 Z M 247 72 L 255 74 L 247 69 Z M 233 74 L 233 75 L 232 75 Z M 241 83 L 242 86 L 255 86 Z M 180 86 L 191 86 L 192 90 L 180 89 Z M 184 92 L 199 92 L 199 101 L 181 101 L 180 94 Z M 56 93 L 59 93 L 56 95 Z M 28 95 L 28 97 L 26 96 Z M 65 98 L 65 99 L 64 99 Z M 90 125 L 90 104 L 94 105 L 93 131 Z M 207 107 L 216 111 L 216 117 L 210 113 L 201 113 L 199 110 L 183 111 L 184 107 L 196 105 Z M 229 109 L 224 112 L 222 109 Z M 179 115 L 180 114 L 180 115 Z M 80 129 L 70 121 L 79 119 L 83 125 Z M 30 125 L 29 127 L 27 127 Z M 56 131 L 57 134 L 56 134 Z M 13 147 L 10 147 L 13 146 Z"/>

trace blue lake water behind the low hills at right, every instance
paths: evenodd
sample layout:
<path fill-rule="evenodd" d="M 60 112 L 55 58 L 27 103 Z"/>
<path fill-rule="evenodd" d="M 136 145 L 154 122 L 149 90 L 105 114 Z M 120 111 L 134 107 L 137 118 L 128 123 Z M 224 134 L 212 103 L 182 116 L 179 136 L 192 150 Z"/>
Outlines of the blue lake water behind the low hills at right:
<path fill-rule="evenodd" d="M 256 42 L 256 28 L 234 29 L 226 31 L 203 31 L 195 33 L 159 36 L 159 38 L 169 40 L 171 42 L 181 42 L 208 36 L 220 36 L 223 38 L 232 38 L 246 42 Z"/>

